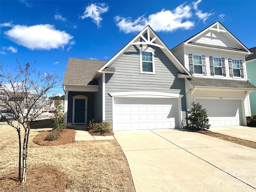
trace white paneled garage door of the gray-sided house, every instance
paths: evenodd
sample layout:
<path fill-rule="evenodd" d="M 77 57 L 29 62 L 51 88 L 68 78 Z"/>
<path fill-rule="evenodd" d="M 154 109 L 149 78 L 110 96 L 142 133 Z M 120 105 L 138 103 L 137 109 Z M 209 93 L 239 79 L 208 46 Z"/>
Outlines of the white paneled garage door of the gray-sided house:
<path fill-rule="evenodd" d="M 178 127 L 177 99 L 114 98 L 114 131 L 176 127 Z"/>

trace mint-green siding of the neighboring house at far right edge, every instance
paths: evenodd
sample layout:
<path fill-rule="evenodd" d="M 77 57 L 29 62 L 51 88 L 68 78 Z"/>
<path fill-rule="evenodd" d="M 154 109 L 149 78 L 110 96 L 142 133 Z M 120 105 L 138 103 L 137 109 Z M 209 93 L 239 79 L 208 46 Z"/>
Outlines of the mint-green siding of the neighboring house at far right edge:
<path fill-rule="evenodd" d="M 246 61 L 246 70 L 250 83 L 256 86 L 256 61 Z M 249 94 L 251 113 L 256 114 L 256 91 Z"/>

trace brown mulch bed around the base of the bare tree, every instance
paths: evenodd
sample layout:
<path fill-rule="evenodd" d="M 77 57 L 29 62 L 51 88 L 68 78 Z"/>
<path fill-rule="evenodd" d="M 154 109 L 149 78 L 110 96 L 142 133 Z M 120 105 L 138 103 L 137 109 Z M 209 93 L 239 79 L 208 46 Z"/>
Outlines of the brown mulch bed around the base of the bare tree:
<path fill-rule="evenodd" d="M 2 192 L 63 192 L 70 181 L 65 172 L 52 166 L 39 166 L 27 170 L 27 180 L 18 183 L 18 172 L 0 178 Z"/>

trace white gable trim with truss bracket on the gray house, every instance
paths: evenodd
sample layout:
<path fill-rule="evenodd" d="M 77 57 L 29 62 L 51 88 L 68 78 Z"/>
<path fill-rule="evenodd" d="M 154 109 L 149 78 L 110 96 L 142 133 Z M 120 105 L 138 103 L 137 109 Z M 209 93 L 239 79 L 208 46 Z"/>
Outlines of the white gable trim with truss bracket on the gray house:
<path fill-rule="evenodd" d="M 147 37 L 144 35 L 147 34 Z M 138 40 L 142 38 L 142 42 Z M 190 72 L 180 63 L 180 61 L 174 56 L 166 44 L 160 39 L 160 37 L 154 32 L 154 30 L 148 25 L 139 34 L 137 34 L 126 46 L 124 46 L 115 56 L 113 56 L 98 72 L 104 72 L 107 67 L 110 67 L 130 46 L 132 45 L 152 45 L 159 47 L 164 54 L 173 62 L 173 64 L 180 70 L 180 72 L 186 73 L 191 76 Z M 94 78 L 97 75 L 94 76 Z"/>

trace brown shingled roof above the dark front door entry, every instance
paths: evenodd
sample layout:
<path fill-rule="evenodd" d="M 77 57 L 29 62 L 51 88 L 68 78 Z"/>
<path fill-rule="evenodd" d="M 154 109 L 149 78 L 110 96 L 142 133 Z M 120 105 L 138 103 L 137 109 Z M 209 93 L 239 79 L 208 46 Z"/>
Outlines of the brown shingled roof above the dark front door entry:
<path fill-rule="evenodd" d="M 97 85 L 92 77 L 108 61 L 69 58 L 63 85 Z"/>

